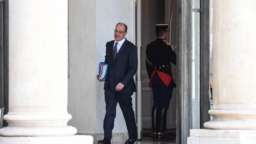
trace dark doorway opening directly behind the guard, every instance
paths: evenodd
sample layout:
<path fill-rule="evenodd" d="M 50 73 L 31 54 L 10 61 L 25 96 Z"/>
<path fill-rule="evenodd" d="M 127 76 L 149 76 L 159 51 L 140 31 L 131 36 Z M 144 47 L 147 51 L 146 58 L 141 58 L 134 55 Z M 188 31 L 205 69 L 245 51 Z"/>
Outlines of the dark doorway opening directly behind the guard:
<path fill-rule="evenodd" d="M 173 2 L 173 3 L 172 3 Z M 142 137 L 151 137 L 152 134 L 152 121 L 151 111 L 153 105 L 152 89 L 148 87 L 149 78 L 146 72 L 145 59 L 146 59 L 146 46 L 156 39 L 155 24 L 156 23 L 168 23 L 170 20 L 171 6 L 172 6 L 172 20 L 170 38 L 174 46 L 177 45 L 177 1 L 168 0 L 155 0 L 155 1 L 139 1 L 140 5 L 140 21 L 141 28 L 137 25 L 137 29 L 141 30 L 141 41 L 138 45 L 140 47 L 140 80 L 141 80 L 141 132 Z M 178 78 L 177 66 L 172 65 L 172 73 L 174 79 Z M 177 90 L 174 89 L 172 93 L 171 105 L 167 114 L 167 141 L 173 141 L 176 137 L 176 97 Z"/>

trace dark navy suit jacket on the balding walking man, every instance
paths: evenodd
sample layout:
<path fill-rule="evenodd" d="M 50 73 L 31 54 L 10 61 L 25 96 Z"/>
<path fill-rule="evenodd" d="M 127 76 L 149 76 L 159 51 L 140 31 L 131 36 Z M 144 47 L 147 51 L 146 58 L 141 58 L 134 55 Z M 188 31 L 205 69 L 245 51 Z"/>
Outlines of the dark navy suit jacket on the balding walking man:
<path fill-rule="evenodd" d="M 114 40 L 106 44 L 105 62 L 108 63 L 107 78 L 105 79 L 104 89 L 110 86 L 110 89 L 116 91 L 116 85 L 121 82 L 124 88 L 119 91 L 121 94 L 132 94 L 136 91 L 133 76 L 137 71 L 137 49 L 136 46 L 128 40 L 125 40 L 113 59 Z"/>

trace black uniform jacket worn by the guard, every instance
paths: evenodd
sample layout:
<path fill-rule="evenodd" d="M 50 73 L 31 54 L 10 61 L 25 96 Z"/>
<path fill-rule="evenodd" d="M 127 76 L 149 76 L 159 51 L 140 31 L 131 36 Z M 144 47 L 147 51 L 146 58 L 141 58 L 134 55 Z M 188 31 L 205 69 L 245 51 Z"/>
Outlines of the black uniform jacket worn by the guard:
<path fill-rule="evenodd" d="M 151 78 L 152 72 L 156 69 L 157 71 L 164 72 L 169 76 L 172 76 L 171 63 L 176 65 L 177 55 L 172 50 L 171 44 L 168 44 L 161 38 L 157 38 L 155 41 L 148 44 L 146 48 L 146 57 L 149 62 L 152 63 L 151 66 L 146 60 L 146 70 L 148 72 L 149 79 Z M 165 65 L 165 67 L 162 65 Z M 171 81 L 169 87 L 176 87 L 175 82 Z"/>

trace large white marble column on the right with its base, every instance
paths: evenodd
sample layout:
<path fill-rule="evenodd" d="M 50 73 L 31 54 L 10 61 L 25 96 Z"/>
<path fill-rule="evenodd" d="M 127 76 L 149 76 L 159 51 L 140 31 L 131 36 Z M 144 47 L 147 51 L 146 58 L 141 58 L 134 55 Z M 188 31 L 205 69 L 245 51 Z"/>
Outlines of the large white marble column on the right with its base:
<path fill-rule="evenodd" d="M 195 137 L 256 142 L 255 7 L 254 0 L 213 1 L 213 120 L 204 123 L 209 130 L 190 131 L 191 143 Z"/>

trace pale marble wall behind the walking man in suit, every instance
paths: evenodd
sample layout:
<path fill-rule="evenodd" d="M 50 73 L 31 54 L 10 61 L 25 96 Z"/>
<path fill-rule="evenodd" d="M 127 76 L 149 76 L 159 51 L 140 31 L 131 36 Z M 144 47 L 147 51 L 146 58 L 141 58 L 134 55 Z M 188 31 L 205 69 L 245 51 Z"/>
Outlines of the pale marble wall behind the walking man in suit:
<path fill-rule="evenodd" d="M 103 133 L 105 115 L 104 82 L 98 82 L 98 63 L 104 61 L 105 43 L 114 39 L 114 28 L 126 23 L 126 38 L 134 42 L 133 1 L 69 1 L 70 78 L 69 124 L 78 133 Z M 127 132 L 123 114 L 117 106 L 113 133 Z"/>

